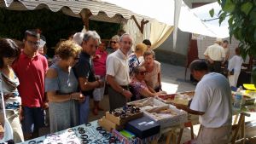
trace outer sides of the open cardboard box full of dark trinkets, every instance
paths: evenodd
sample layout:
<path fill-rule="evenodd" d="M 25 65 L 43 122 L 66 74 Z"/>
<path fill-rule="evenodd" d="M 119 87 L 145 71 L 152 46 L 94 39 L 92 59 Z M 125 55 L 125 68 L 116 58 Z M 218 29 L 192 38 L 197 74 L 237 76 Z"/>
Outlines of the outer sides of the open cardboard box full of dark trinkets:
<path fill-rule="evenodd" d="M 127 122 L 129 122 L 132 119 L 136 119 L 136 118 L 141 118 L 143 117 L 143 112 L 137 112 L 133 115 L 131 115 L 130 117 L 127 118 L 119 118 L 119 117 L 115 117 L 113 114 L 106 112 L 106 118 L 113 122 L 114 124 L 117 125 L 125 125 Z"/>

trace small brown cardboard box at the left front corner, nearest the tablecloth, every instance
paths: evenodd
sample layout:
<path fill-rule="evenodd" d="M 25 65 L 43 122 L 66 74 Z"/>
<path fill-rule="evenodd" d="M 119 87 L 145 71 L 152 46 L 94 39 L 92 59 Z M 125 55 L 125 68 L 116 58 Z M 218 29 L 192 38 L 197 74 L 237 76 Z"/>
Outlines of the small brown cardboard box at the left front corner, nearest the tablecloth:
<path fill-rule="evenodd" d="M 111 122 L 110 120 L 108 120 L 107 118 L 105 118 L 105 116 L 101 119 L 98 120 L 98 123 L 102 126 L 102 128 L 104 128 L 105 130 L 108 130 L 109 132 L 111 132 L 111 130 L 122 130 L 123 127 L 119 126 L 117 124 L 114 124 L 113 122 Z"/>

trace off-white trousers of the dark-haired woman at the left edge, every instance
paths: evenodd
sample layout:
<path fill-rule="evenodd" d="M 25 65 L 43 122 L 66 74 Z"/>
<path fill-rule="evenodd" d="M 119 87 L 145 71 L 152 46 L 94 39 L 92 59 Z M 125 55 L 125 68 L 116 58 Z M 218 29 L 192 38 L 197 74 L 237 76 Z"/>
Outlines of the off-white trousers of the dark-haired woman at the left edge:
<path fill-rule="evenodd" d="M 24 136 L 21 129 L 19 118 L 19 110 L 6 110 L 6 117 L 9 121 L 9 124 L 11 124 L 12 126 L 15 143 L 24 141 Z"/>

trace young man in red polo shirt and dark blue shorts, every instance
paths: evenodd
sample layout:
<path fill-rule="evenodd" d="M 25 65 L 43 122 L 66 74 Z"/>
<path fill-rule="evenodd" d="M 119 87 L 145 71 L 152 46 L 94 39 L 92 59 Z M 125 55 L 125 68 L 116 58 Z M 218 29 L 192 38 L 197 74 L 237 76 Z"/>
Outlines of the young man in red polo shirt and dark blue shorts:
<path fill-rule="evenodd" d="M 44 109 L 48 108 L 44 95 L 44 78 L 48 63 L 44 55 L 38 53 L 39 43 L 40 34 L 35 30 L 27 30 L 24 49 L 13 65 L 20 80 L 20 115 L 25 140 L 38 137 L 38 129 L 44 126 Z"/>

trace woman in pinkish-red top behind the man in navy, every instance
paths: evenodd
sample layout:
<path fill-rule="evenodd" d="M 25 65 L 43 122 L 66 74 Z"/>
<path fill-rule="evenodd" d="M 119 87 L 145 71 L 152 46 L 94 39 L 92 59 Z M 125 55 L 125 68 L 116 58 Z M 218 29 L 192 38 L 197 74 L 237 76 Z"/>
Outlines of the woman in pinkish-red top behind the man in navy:
<path fill-rule="evenodd" d="M 106 43 L 102 41 L 98 49 L 96 49 L 96 54 L 93 57 L 93 64 L 96 78 L 100 79 L 103 83 L 105 83 L 107 56 Z M 103 110 L 99 106 L 99 103 L 103 98 L 104 89 L 105 87 L 103 86 L 102 88 L 97 88 L 93 91 L 94 108 L 92 112 L 94 115 L 98 115 L 98 111 Z"/>

